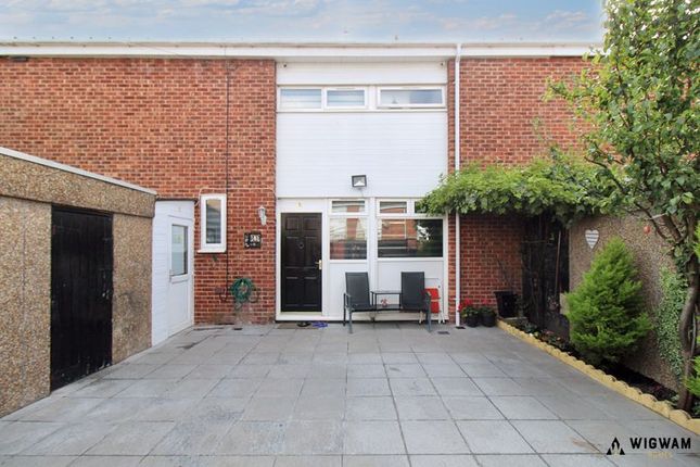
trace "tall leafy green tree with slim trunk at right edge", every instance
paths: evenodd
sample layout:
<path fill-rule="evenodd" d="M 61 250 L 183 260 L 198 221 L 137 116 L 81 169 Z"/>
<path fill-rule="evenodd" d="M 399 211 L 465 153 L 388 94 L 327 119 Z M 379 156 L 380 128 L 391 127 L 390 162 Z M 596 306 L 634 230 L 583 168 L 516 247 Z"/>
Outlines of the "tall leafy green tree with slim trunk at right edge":
<path fill-rule="evenodd" d="M 641 213 L 670 245 L 688 289 L 679 338 L 692 373 L 699 301 L 698 76 L 700 0 L 609 0 L 602 50 L 573 84 L 552 85 L 585 121 L 586 159 L 613 187 L 608 197 Z M 692 397 L 682 391 L 680 408 Z"/>

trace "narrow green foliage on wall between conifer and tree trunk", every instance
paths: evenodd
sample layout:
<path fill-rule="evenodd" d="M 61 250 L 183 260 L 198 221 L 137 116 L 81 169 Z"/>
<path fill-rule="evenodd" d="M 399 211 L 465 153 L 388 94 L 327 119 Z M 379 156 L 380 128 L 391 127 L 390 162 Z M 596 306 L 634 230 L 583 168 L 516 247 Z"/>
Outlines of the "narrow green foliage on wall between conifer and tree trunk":
<path fill-rule="evenodd" d="M 680 312 L 686 301 L 688 282 L 675 272 L 661 272 L 662 298 L 653 311 L 654 331 L 659 354 L 669 364 L 677 381 L 683 380 L 683 350 L 678 337 Z"/>

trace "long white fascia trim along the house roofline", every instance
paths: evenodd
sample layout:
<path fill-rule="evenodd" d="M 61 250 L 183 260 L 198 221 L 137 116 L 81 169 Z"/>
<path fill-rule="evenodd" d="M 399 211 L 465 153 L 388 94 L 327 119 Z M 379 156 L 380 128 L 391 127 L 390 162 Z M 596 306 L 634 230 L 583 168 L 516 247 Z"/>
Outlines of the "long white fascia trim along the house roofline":
<path fill-rule="evenodd" d="M 582 56 L 599 43 L 464 43 L 462 56 Z M 192 43 L 192 42 L 0 42 L 10 56 L 144 56 L 275 60 L 434 59 L 455 56 L 454 43 Z"/>

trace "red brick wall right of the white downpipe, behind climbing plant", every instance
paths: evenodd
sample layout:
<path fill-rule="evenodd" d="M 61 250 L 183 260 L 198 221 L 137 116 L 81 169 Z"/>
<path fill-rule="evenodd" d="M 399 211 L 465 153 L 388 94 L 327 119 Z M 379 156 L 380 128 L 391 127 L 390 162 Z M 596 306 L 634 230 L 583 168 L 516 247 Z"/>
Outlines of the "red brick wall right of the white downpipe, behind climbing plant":
<path fill-rule="evenodd" d="M 460 164 L 521 164 L 545 154 L 552 141 L 573 146 L 571 114 L 560 101 L 544 102 L 543 94 L 548 79 L 565 79 L 584 66 L 580 58 L 462 59 Z M 454 154 L 451 130 L 450 148 Z M 493 292 L 508 286 L 498 261 L 520 292 L 522 223 L 506 216 L 462 216 L 460 224 L 460 298 L 494 304 Z"/>

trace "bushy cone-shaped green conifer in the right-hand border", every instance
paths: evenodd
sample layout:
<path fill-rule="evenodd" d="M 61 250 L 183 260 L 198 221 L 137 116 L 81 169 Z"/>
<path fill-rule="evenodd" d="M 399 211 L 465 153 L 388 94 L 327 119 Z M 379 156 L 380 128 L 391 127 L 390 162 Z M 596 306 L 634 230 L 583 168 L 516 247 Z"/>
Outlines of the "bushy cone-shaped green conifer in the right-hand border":
<path fill-rule="evenodd" d="M 611 239 L 568 295 L 571 342 L 585 359 L 619 362 L 649 332 L 640 290 L 632 254 L 621 239 Z"/>

